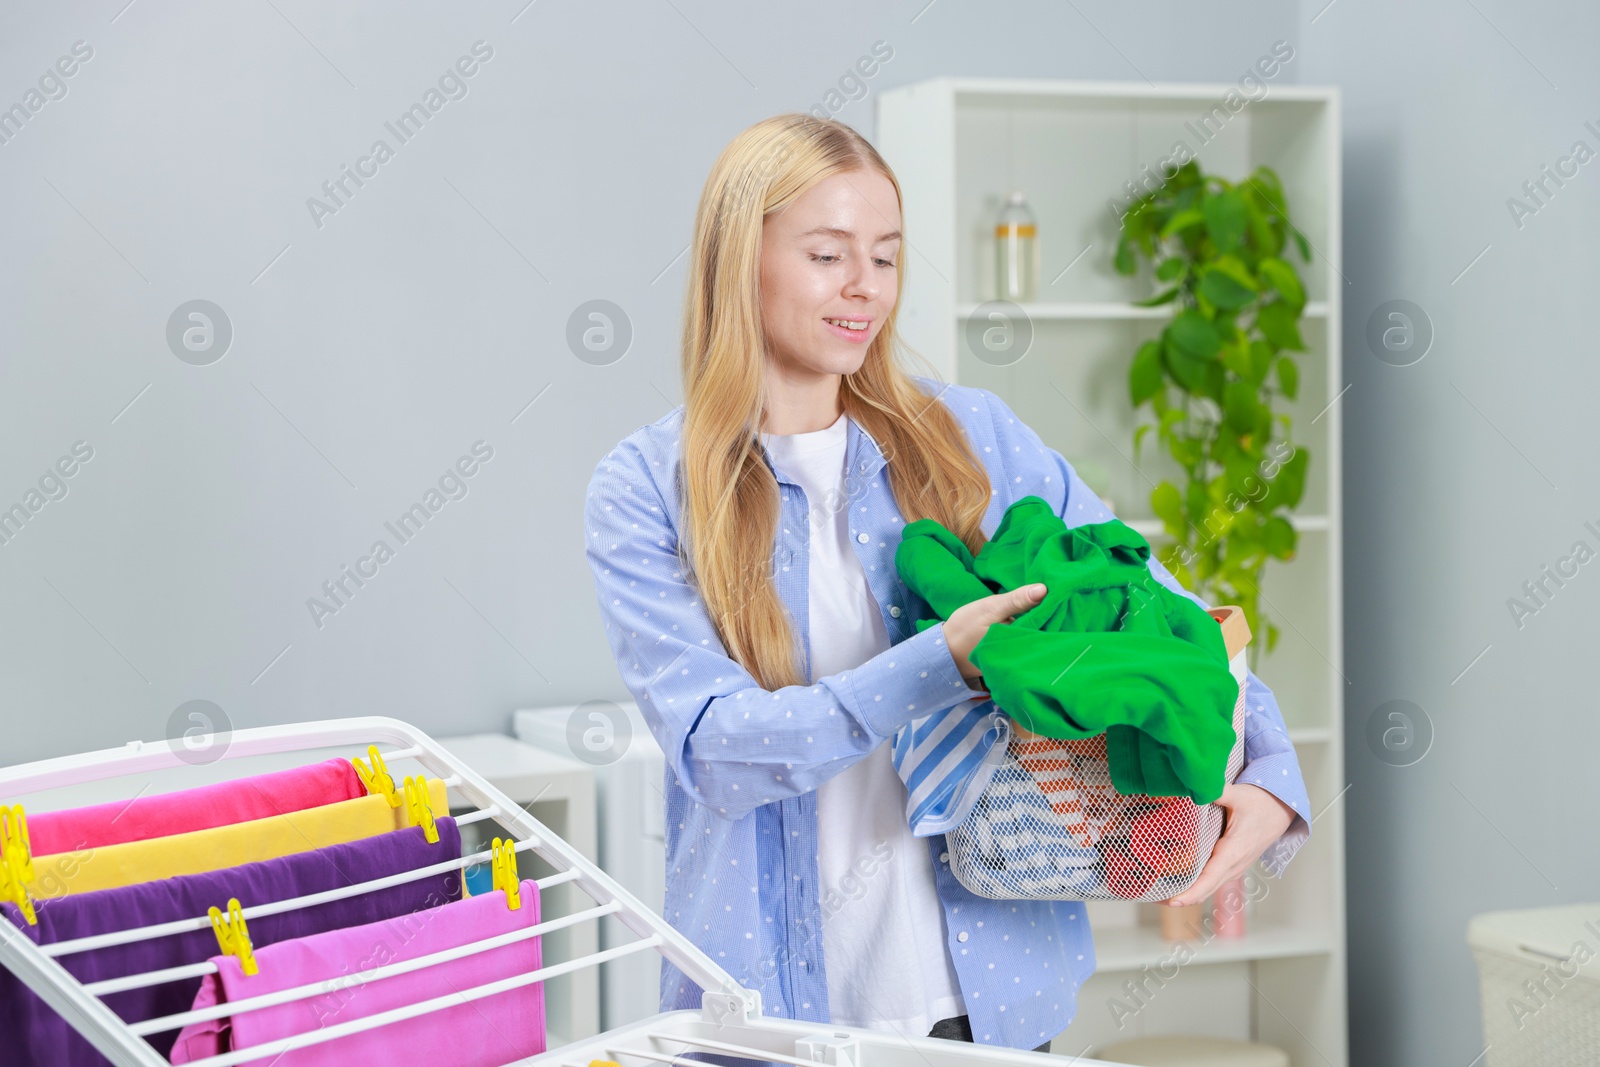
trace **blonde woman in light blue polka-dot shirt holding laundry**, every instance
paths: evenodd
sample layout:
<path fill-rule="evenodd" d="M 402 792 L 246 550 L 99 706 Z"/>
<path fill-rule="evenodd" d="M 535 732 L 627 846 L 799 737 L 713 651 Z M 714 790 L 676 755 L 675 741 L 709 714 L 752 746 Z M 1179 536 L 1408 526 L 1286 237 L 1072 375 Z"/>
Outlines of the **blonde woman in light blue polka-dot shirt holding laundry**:
<path fill-rule="evenodd" d="M 883 744 L 982 693 L 973 646 L 1042 587 L 915 632 L 894 549 L 931 517 L 978 552 L 1027 494 L 1069 525 L 1112 515 L 995 394 L 896 366 L 906 248 L 856 131 L 779 115 L 734 138 L 694 222 L 685 403 L 595 469 L 587 558 L 670 768 L 667 920 L 765 1014 L 1043 1049 L 1094 969 L 1083 905 L 963 889 L 944 837 L 910 835 Z M 1277 702 L 1254 675 L 1248 697 L 1227 830 L 1186 899 L 1269 846 L 1282 872 L 1309 833 Z M 670 963 L 661 1006 L 701 1006 Z"/>

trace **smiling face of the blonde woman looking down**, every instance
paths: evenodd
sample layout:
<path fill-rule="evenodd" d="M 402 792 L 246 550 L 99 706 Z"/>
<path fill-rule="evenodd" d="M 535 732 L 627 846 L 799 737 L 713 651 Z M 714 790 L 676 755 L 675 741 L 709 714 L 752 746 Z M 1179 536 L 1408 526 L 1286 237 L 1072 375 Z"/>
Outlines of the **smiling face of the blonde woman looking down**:
<path fill-rule="evenodd" d="M 877 171 L 819 181 L 762 224 L 768 374 L 851 374 L 899 296 L 901 214 Z"/>

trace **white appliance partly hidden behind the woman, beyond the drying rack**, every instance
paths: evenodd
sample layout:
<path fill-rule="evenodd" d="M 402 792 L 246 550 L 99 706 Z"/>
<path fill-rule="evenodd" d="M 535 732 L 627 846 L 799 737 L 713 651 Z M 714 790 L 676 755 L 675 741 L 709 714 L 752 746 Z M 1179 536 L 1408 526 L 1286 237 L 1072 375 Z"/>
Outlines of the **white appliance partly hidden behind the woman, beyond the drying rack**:
<path fill-rule="evenodd" d="M 518 741 L 595 769 L 600 869 L 658 915 L 666 909 L 666 760 L 638 705 L 589 701 L 518 710 Z M 635 939 L 621 920 L 600 923 L 600 947 Z M 661 1011 L 661 957 L 600 965 L 600 1025 L 613 1030 Z"/>

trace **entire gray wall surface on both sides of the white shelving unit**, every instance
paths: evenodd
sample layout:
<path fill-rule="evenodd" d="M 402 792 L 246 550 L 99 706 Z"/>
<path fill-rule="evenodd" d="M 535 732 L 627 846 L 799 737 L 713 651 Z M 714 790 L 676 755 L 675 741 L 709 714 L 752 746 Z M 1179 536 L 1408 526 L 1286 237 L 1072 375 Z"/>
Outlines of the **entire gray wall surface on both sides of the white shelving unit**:
<path fill-rule="evenodd" d="M 1600 545 L 1600 163 L 1522 229 L 1506 208 L 1573 141 L 1600 147 L 1587 6 L 42 6 L 3 8 L 0 106 L 74 42 L 93 56 L 0 144 L 0 507 L 74 443 L 93 458 L 0 544 L 3 761 L 160 737 L 194 699 L 235 726 L 392 713 L 445 734 L 624 696 L 582 490 L 677 403 L 680 253 L 728 138 L 822 102 L 877 40 L 893 59 L 838 112 L 869 133 L 872 94 L 925 77 L 1230 82 L 1288 38 L 1291 80 L 1346 94 L 1355 1062 L 1470 1062 L 1466 918 L 1594 896 L 1600 579 L 1522 629 L 1506 608 Z M 400 144 L 384 123 L 478 40 L 466 94 L 446 80 L 459 99 Z M 379 138 L 394 157 L 318 226 L 307 198 Z M 208 365 L 166 336 L 195 299 L 232 325 Z M 566 341 L 592 299 L 632 325 L 608 365 Z M 1390 299 L 1432 320 L 1413 366 L 1365 349 Z M 493 459 L 400 544 L 384 523 L 475 442 Z M 394 558 L 318 625 L 307 598 L 376 539 Z M 1366 747 L 1390 699 L 1432 721 L 1414 766 Z"/>

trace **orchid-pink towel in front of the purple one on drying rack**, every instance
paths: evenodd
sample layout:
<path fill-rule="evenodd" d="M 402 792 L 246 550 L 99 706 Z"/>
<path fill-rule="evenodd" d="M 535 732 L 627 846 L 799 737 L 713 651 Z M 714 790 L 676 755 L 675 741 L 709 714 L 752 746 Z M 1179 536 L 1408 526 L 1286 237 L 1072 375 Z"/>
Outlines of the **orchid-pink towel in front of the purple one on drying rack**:
<path fill-rule="evenodd" d="M 416 960 L 514 929 L 526 929 L 538 921 L 539 886 L 523 881 L 518 910 L 506 905 L 504 893 L 491 891 L 403 918 L 280 941 L 256 950 L 259 973 L 250 977 L 234 957 L 213 957 L 211 961 L 218 965 L 219 973 L 200 981 L 200 993 L 194 1003 L 197 1011 L 315 982 L 325 982 L 326 992 L 274 1008 L 187 1025 L 178 1035 L 171 1061 L 187 1064 L 206 1056 L 254 1048 L 526 974 L 541 966 L 539 937 L 437 963 L 410 974 L 395 974 L 362 985 L 350 984 L 350 977 L 368 974 L 389 963 Z M 250 1062 L 262 1067 L 266 1064 L 349 1067 L 352 1062 L 499 1067 L 542 1053 L 544 1048 L 544 982 L 534 982 Z"/>

